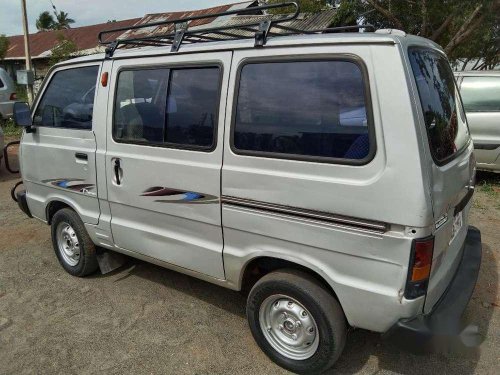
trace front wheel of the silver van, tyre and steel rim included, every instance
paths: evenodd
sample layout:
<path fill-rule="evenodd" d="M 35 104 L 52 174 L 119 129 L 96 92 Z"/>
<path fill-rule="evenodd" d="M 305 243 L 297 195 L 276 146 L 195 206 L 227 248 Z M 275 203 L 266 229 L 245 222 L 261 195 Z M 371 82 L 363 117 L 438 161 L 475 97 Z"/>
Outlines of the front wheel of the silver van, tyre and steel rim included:
<path fill-rule="evenodd" d="M 66 272 L 83 277 L 97 270 L 96 247 L 75 211 L 70 208 L 57 211 L 52 218 L 51 234 L 57 259 Z M 67 246 L 63 248 L 64 243 Z"/>

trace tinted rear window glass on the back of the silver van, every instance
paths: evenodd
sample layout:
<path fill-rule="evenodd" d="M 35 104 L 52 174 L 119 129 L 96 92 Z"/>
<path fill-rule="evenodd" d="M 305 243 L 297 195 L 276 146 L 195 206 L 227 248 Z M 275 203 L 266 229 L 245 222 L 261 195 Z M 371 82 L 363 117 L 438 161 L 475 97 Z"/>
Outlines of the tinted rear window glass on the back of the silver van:
<path fill-rule="evenodd" d="M 409 56 L 431 153 L 437 164 L 443 164 L 470 139 L 457 85 L 450 64 L 439 52 L 410 48 Z"/>

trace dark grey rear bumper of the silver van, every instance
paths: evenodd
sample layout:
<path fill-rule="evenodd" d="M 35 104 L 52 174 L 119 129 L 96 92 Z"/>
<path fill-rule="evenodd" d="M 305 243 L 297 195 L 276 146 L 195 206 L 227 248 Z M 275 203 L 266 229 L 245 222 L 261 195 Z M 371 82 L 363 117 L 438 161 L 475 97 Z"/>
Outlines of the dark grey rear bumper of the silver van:
<path fill-rule="evenodd" d="M 398 321 L 384 336 L 401 343 L 411 342 L 411 346 L 414 346 L 455 340 L 461 335 L 465 329 L 462 315 L 476 285 L 481 253 L 481 232 L 475 227 L 469 227 L 460 265 L 433 310 L 426 315 Z"/>

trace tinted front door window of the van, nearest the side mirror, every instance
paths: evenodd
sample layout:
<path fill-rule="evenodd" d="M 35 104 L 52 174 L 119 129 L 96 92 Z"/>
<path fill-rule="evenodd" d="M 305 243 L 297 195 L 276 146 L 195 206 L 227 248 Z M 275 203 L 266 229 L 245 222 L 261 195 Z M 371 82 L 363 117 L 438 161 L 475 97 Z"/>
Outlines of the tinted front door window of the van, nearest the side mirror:
<path fill-rule="evenodd" d="M 34 125 L 92 129 L 99 66 L 62 70 L 54 74 L 34 116 Z"/>

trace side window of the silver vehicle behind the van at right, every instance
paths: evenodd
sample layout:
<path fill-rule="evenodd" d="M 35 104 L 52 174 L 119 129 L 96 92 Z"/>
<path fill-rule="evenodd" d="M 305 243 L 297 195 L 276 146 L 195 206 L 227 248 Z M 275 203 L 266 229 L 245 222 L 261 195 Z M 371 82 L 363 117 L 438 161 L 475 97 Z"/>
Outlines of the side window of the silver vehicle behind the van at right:
<path fill-rule="evenodd" d="M 500 77 L 464 77 L 460 90 L 467 112 L 500 111 Z"/>

